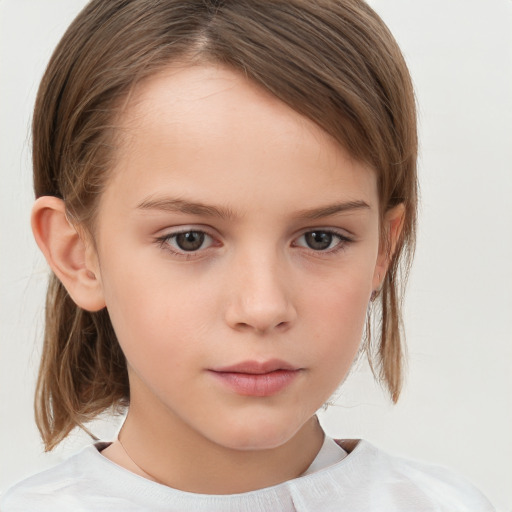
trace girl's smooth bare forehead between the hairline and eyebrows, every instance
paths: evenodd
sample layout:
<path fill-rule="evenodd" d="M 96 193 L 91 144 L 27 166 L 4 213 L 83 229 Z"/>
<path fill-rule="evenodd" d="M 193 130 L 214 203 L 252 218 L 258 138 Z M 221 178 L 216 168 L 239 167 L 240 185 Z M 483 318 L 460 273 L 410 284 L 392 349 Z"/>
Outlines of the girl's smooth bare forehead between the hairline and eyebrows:
<path fill-rule="evenodd" d="M 230 68 L 169 66 L 132 92 L 119 120 L 113 182 L 130 196 L 270 203 L 375 203 L 376 179 L 318 125 Z M 129 190 L 128 190 L 129 189 Z M 343 197 L 339 197 L 340 194 Z M 204 196 L 204 197 L 197 197 Z M 302 205 L 304 208 L 315 204 Z"/>

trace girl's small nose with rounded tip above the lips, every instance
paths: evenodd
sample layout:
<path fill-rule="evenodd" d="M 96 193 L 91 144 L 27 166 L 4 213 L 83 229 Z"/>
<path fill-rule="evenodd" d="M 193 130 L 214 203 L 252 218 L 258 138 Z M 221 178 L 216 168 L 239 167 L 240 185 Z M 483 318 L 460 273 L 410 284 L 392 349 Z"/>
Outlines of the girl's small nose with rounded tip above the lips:
<path fill-rule="evenodd" d="M 227 324 L 237 331 L 258 334 L 288 330 L 297 312 L 284 265 L 275 256 L 262 254 L 232 263 Z"/>

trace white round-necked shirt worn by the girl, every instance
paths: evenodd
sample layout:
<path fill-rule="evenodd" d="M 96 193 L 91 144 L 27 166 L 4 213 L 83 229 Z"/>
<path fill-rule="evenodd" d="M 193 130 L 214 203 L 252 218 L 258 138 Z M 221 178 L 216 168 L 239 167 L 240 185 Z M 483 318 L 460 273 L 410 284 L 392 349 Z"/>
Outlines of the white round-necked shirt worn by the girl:
<path fill-rule="evenodd" d="M 2 512 L 491 512 L 470 483 L 372 444 L 326 438 L 310 468 L 273 487 L 232 495 L 179 491 L 114 464 L 91 445 L 11 488 Z M 340 450 L 342 446 L 346 451 Z M 348 453 L 347 453 L 348 452 Z"/>

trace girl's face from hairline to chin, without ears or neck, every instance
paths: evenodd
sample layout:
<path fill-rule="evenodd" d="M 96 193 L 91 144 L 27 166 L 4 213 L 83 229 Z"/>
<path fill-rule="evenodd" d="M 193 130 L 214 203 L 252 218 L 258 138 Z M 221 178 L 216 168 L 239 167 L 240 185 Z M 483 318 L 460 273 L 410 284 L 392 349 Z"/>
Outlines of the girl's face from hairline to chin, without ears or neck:
<path fill-rule="evenodd" d="M 144 82 L 89 260 L 131 407 L 217 444 L 279 446 L 335 391 L 384 275 L 376 177 L 228 68 Z"/>

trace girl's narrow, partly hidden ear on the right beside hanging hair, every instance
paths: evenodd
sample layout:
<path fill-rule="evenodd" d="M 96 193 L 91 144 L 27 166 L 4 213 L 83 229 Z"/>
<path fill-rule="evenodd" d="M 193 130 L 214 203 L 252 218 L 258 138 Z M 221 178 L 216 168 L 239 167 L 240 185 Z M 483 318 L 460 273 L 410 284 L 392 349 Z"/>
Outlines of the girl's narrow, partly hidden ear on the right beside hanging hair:
<path fill-rule="evenodd" d="M 393 260 L 396 245 L 402 233 L 405 219 L 405 206 L 399 204 L 384 214 L 379 254 L 373 274 L 373 289 L 380 290 L 389 265 Z"/>

